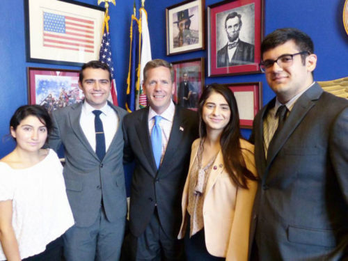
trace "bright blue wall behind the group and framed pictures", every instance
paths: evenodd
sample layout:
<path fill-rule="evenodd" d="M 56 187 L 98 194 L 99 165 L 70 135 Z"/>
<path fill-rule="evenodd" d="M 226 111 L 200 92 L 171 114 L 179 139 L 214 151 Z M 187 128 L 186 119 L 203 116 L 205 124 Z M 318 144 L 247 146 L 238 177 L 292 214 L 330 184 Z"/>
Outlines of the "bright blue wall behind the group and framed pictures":
<path fill-rule="evenodd" d="M 84 3 L 96 5 L 97 0 L 84 0 Z M 207 51 L 190 52 L 175 56 L 166 56 L 166 15 L 165 8 L 181 0 L 146 0 L 150 38 L 152 41 L 152 58 L 164 58 L 167 61 L 182 61 L 190 58 L 205 57 Z M 209 6 L 219 0 L 206 0 Z M 342 25 L 342 8 L 344 0 L 265 0 L 264 33 L 270 33 L 280 27 L 297 27 L 308 33 L 315 42 L 318 56 L 315 79 L 319 81 L 348 76 L 348 35 Z M 139 7 L 140 0 L 136 0 Z M 15 8 L 15 9 L 14 9 Z M 205 8 L 206 10 L 206 8 Z M 125 103 L 125 82 L 129 55 L 129 25 L 133 12 L 133 1 L 116 0 L 116 7 L 111 6 L 110 29 L 113 42 L 113 60 L 116 68 L 116 84 L 121 106 Z M 13 149 L 12 141 L 3 141 L 8 134 L 8 122 L 15 109 L 26 104 L 27 82 L 26 67 L 67 68 L 71 66 L 26 63 L 24 38 L 24 3 L 23 0 L 1 1 L 0 7 L 0 158 Z M 205 24 L 206 27 L 206 24 Z M 207 68 L 207 63 L 205 64 Z M 205 78 L 205 84 L 221 84 L 262 81 L 263 103 L 268 102 L 273 93 L 267 86 L 262 74 L 248 74 L 233 77 Z M 243 130 L 248 137 L 250 130 Z"/>

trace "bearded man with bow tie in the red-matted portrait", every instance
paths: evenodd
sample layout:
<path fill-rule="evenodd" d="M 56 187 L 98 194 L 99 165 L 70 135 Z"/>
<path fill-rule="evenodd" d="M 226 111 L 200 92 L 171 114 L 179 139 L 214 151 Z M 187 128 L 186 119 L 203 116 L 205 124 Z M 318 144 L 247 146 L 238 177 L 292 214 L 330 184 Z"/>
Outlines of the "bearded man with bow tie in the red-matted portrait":
<path fill-rule="evenodd" d="M 254 45 L 239 39 L 239 31 L 242 29 L 241 17 L 242 15 L 233 12 L 225 19 L 228 43 L 217 52 L 218 68 L 254 62 Z"/>

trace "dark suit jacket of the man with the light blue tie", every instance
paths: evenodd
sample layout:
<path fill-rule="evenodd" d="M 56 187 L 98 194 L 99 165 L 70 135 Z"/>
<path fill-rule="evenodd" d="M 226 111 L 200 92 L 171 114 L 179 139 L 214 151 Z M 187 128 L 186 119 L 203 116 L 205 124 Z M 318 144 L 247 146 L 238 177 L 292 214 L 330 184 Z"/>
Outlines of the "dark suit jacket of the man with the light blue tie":
<path fill-rule="evenodd" d="M 198 137 L 195 111 L 175 106 L 171 136 L 157 171 L 148 131 L 149 109 L 125 116 L 125 161 L 135 160 L 129 207 L 129 228 L 139 237 L 150 222 L 155 205 L 168 237 L 177 238 L 181 225 L 181 198 L 189 171 L 191 145 Z"/>

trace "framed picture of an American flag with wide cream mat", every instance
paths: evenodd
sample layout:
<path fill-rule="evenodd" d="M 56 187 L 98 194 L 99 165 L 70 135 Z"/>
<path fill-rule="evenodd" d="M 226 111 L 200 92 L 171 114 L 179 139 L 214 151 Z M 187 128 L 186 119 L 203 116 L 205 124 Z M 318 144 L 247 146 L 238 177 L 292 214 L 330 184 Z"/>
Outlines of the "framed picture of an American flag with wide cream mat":
<path fill-rule="evenodd" d="M 97 60 L 104 10 L 76 1 L 24 0 L 26 61 L 81 66 Z"/>

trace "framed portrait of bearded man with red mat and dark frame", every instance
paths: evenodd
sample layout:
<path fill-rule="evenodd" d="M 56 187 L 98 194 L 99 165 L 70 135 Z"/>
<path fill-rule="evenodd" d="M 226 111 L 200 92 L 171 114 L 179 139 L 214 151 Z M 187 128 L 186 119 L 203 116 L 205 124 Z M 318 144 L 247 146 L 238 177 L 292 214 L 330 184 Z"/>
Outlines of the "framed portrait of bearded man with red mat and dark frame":
<path fill-rule="evenodd" d="M 260 73 L 263 0 L 207 7 L 208 76 Z"/>

